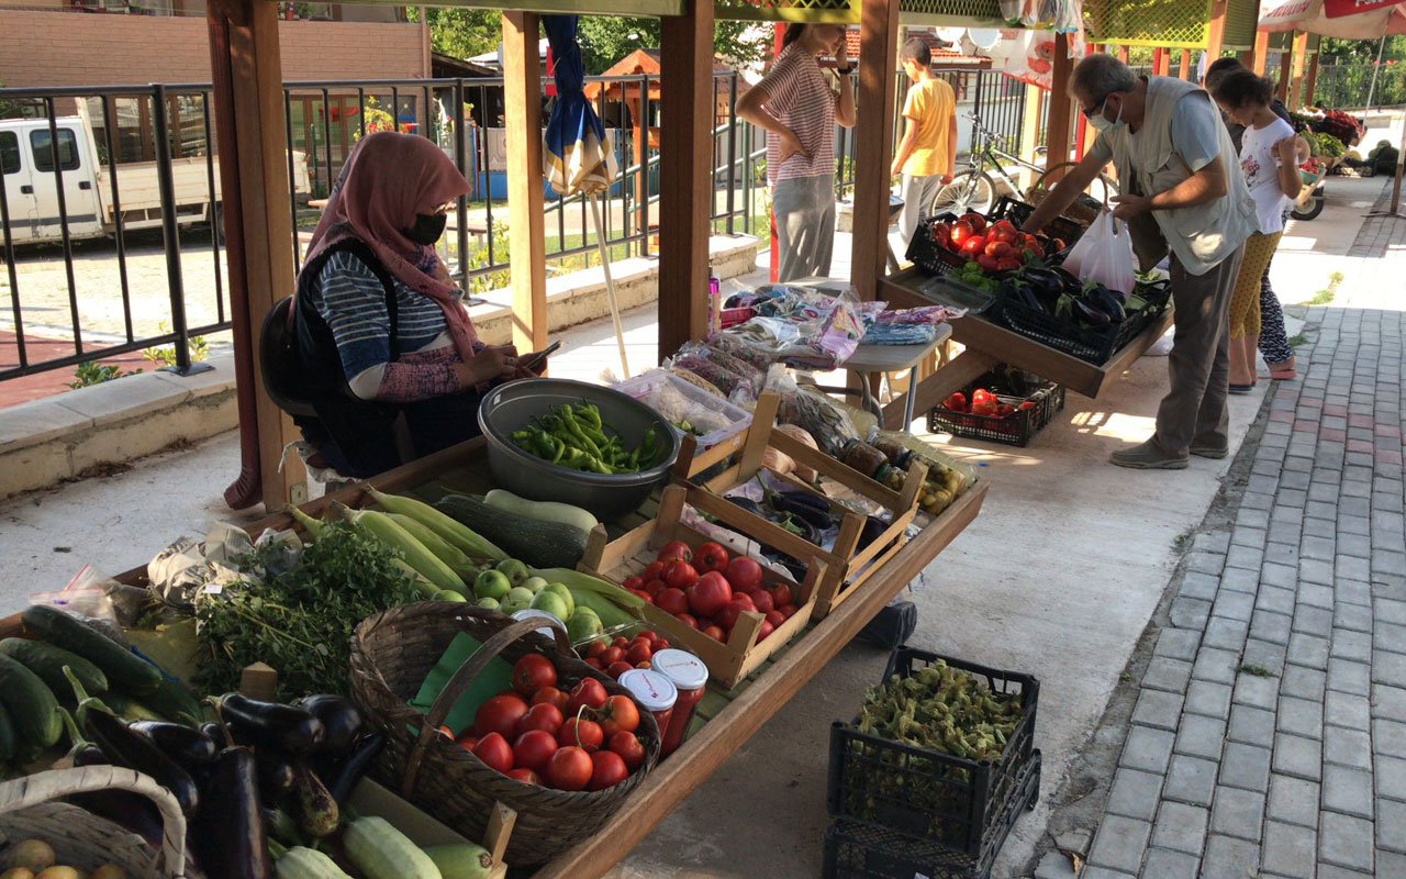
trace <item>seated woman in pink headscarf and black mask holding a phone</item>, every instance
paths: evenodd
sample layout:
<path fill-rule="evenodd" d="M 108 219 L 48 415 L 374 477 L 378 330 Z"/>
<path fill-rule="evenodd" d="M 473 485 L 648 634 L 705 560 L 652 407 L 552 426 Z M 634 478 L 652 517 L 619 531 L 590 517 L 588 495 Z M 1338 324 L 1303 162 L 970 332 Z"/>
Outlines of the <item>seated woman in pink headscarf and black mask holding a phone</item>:
<path fill-rule="evenodd" d="M 301 384 L 316 408 L 298 426 L 343 475 L 401 463 L 404 415 L 419 457 L 478 435 L 486 385 L 524 374 L 516 352 L 478 340 L 434 255 L 468 181 L 430 141 L 367 135 L 347 156 L 302 271 Z"/>

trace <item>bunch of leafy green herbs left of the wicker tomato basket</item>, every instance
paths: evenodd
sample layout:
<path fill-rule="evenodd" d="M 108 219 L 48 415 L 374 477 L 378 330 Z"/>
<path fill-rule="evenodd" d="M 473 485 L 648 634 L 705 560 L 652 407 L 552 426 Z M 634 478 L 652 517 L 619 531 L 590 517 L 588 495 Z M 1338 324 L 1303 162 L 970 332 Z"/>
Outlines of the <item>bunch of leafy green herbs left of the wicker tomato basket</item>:
<path fill-rule="evenodd" d="M 266 570 L 281 544 L 257 550 L 243 570 Z M 245 581 L 197 602 L 200 667 L 195 685 L 222 693 L 239 686 L 252 662 L 278 669 L 278 698 L 342 693 L 356 626 L 419 599 L 395 554 L 346 523 L 326 525 L 298 564 L 264 582 Z"/>

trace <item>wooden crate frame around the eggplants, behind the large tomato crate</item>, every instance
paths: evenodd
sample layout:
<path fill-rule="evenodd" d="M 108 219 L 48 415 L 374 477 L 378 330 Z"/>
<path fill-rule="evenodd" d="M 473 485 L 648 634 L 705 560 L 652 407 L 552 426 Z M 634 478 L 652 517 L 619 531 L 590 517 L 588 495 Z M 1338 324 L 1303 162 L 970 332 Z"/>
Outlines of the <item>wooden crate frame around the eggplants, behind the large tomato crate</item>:
<path fill-rule="evenodd" d="M 855 588 L 872 577 L 883 563 L 890 560 L 903 544 L 907 543 L 908 525 L 918 513 L 918 491 L 928 477 L 928 467 L 921 461 L 914 461 L 908 467 L 903 491 L 894 491 L 875 480 L 863 475 L 858 470 L 817 451 L 810 446 L 775 430 L 776 408 L 779 398 L 766 392 L 756 399 L 756 411 L 751 426 L 740 433 L 741 451 L 735 454 L 731 467 L 721 474 L 696 485 L 697 495 L 689 496 L 689 503 L 699 511 L 717 516 L 724 512 L 741 515 L 738 526 L 744 534 L 759 540 L 787 556 L 800 560 L 801 564 L 818 561 L 824 564 L 824 574 L 817 584 L 814 619 L 824 619 L 835 606 L 855 592 Z M 762 457 L 768 449 L 782 451 L 797 463 L 804 464 L 820 474 L 823 484 L 834 492 L 827 492 L 831 503 L 845 505 L 846 499 L 863 498 L 882 506 L 889 513 L 889 527 L 883 534 L 865 548 L 859 548 L 859 534 L 865 526 L 865 518 L 849 512 L 841 519 L 839 536 L 830 551 L 801 540 L 796 534 L 755 516 L 735 505 L 724 501 L 723 494 L 731 488 L 752 480 L 762 468 Z M 710 450 L 711 451 L 711 450 Z M 692 460 L 682 454 L 681 466 L 673 470 L 676 481 L 688 482 L 690 473 L 699 468 Z M 709 460 L 709 464 L 721 458 Z M 775 471 L 772 471 L 775 473 Z M 792 488 L 815 492 L 815 487 L 800 481 L 792 474 L 775 474 Z M 690 482 L 692 484 L 692 482 Z"/>

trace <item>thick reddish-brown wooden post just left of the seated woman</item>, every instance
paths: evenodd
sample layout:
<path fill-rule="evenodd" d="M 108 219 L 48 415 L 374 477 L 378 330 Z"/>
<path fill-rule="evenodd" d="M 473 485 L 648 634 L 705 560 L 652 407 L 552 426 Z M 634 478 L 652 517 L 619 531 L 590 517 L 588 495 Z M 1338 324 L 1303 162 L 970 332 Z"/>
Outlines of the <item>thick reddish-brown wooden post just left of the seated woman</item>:
<path fill-rule="evenodd" d="M 302 461 L 288 456 L 280 467 L 302 436 L 263 392 L 259 364 L 259 328 L 295 276 L 277 7 L 217 0 L 207 20 L 243 458 L 225 501 L 236 509 L 263 501 L 271 512 L 308 496 Z"/>

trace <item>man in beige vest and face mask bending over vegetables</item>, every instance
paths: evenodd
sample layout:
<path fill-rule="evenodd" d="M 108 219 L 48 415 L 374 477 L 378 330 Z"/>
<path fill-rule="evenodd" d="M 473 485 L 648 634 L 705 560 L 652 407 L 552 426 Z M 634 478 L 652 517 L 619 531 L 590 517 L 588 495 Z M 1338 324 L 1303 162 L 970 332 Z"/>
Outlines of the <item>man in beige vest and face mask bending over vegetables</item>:
<path fill-rule="evenodd" d="M 1128 224 L 1147 270 L 1170 250 L 1175 308 L 1171 390 L 1157 408 L 1157 432 L 1109 458 L 1139 470 L 1182 470 L 1191 454 L 1229 451 L 1226 311 L 1244 240 L 1258 228 L 1230 134 L 1204 90 L 1164 76 L 1139 77 L 1112 55 L 1085 58 L 1070 79 L 1098 139 L 1025 229 L 1059 217 L 1112 162 L 1122 195 L 1114 217 Z"/>

